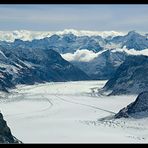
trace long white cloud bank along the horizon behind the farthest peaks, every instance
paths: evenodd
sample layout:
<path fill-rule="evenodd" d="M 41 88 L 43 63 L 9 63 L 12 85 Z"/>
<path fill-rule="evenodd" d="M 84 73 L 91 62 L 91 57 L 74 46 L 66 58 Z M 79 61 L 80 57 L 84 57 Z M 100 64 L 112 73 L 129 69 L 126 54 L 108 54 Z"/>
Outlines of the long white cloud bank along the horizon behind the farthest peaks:
<path fill-rule="evenodd" d="M 108 36 L 124 35 L 123 32 L 116 31 L 88 31 L 88 30 L 75 30 L 65 29 L 63 31 L 28 31 L 28 30 L 15 30 L 15 31 L 0 31 L 0 40 L 13 42 L 15 39 L 21 39 L 23 41 L 32 41 L 33 39 L 42 39 L 50 37 L 53 34 L 64 35 L 72 33 L 76 36 L 102 36 L 103 38 Z"/>

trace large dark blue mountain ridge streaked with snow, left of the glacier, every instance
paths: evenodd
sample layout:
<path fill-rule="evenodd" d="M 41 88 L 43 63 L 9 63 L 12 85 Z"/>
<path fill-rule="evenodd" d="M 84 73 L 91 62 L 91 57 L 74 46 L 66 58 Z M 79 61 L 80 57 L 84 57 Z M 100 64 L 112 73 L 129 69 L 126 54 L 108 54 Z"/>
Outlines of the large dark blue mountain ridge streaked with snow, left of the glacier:
<path fill-rule="evenodd" d="M 0 47 L 0 90 L 16 84 L 88 80 L 79 68 L 51 49 Z"/>

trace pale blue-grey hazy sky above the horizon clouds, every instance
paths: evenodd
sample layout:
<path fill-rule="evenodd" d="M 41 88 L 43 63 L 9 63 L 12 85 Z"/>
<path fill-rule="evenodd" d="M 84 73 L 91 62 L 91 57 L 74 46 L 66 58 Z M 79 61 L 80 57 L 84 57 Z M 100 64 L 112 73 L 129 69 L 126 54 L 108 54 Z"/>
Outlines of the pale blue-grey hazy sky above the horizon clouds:
<path fill-rule="evenodd" d="M 0 5 L 0 30 L 148 31 L 148 5 Z"/>

